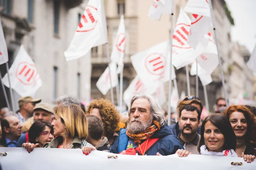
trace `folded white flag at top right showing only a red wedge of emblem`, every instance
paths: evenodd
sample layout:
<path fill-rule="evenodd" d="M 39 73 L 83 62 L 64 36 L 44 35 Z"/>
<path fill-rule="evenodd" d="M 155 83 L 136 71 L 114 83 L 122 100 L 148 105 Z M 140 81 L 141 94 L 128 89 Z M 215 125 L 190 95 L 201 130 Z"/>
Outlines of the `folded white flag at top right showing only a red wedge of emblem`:
<path fill-rule="evenodd" d="M 195 49 L 211 28 L 211 14 L 207 0 L 189 0 L 184 11 L 192 14 L 188 44 Z"/>

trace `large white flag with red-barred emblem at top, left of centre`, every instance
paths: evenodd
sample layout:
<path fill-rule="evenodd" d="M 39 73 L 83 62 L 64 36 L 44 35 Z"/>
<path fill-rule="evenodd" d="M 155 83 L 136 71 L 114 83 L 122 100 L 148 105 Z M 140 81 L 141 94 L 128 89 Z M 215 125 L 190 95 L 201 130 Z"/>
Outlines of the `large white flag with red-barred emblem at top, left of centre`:
<path fill-rule="evenodd" d="M 90 49 L 108 42 L 104 4 L 102 0 L 89 0 L 81 22 L 67 51 L 66 60 L 83 57 Z"/>

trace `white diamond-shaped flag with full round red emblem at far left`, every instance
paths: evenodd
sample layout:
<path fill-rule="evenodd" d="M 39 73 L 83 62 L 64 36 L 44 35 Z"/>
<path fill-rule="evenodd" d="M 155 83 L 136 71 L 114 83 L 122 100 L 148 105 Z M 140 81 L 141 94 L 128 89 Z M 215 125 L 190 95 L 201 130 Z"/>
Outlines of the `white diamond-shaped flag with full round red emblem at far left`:
<path fill-rule="evenodd" d="M 12 88 L 20 96 L 35 96 L 35 92 L 41 87 L 42 80 L 36 70 L 35 63 L 27 54 L 23 45 L 9 70 Z M 3 84 L 10 87 L 8 75 L 3 77 Z"/>

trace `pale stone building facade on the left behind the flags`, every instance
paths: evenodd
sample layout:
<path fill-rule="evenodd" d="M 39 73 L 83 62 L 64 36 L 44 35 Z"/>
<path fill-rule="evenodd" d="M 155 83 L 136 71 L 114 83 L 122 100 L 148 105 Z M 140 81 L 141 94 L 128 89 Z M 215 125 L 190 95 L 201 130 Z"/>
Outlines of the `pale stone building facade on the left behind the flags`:
<path fill-rule="evenodd" d="M 9 67 L 23 44 L 42 79 L 35 97 L 43 102 L 55 105 L 56 98 L 65 94 L 90 101 L 90 54 L 71 61 L 64 57 L 86 5 L 82 0 L 0 0 Z M 6 74 L 5 65 L 0 71 Z M 15 91 L 14 96 L 17 110 L 20 96 Z M 0 101 L 0 108 L 6 105 L 3 93 Z"/>

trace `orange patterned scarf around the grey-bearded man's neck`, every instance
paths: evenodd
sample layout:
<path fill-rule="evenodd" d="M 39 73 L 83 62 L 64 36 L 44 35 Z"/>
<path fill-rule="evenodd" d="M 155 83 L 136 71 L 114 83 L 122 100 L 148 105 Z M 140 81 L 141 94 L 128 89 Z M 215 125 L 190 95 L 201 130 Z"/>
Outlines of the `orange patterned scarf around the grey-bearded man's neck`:
<path fill-rule="evenodd" d="M 141 143 L 141 140 L 149 139 L 155 131 L 160 129 L 159 122 L 154 121 L 154 125 L 148 127 L 144 132 L 138 134 L 132 134 L 129 129 L 126 131 L 126 135 L 131 139 L 134 139 L 135 143 Z"/>

